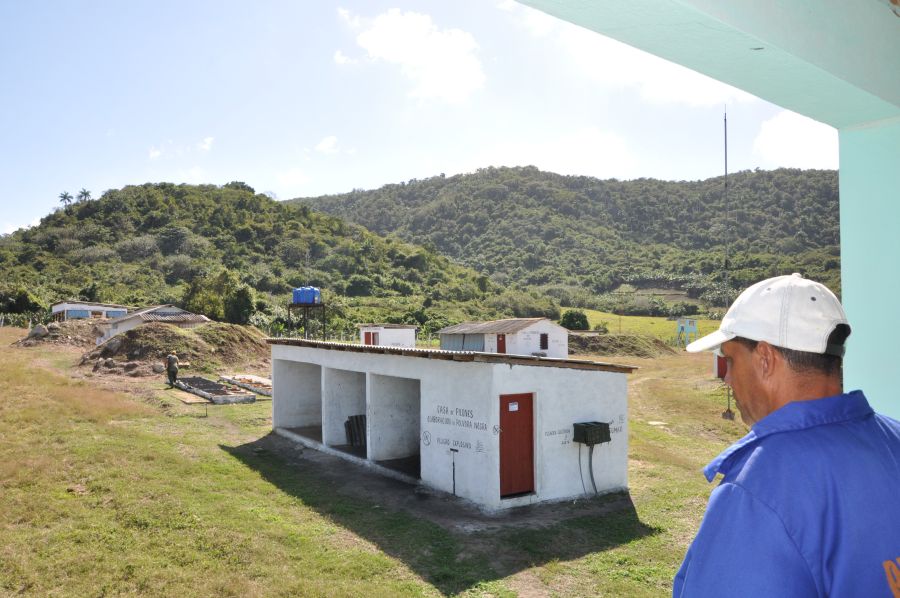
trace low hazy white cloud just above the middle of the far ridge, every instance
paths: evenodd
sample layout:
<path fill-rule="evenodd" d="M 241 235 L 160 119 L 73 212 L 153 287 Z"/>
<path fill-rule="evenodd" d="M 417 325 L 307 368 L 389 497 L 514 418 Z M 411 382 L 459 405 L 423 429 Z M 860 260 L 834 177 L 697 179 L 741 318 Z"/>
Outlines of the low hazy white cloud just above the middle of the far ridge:
<path fill-rule="evenodd" d="M 559 174 L 597 178 L 637 176 L 639 161 L 627 141 L 615 133 L 586 127 L 554 139 L 509 142 L 482 150 L 470 170 L 494 166 L 537 166 Z"/>

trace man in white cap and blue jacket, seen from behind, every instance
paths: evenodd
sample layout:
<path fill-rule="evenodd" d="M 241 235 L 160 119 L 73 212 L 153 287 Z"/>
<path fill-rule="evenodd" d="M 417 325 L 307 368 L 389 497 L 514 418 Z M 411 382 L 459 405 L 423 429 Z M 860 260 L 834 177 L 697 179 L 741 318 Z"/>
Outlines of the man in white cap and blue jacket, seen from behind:
<path fill-rule="evenodd" d="M 722 474 L 673 596 L 900 598 L 900 422 L 844 393 L 850 327 L 799 274 L 741 293 L 717 351 L 750 432 L 706 466 Z"/>

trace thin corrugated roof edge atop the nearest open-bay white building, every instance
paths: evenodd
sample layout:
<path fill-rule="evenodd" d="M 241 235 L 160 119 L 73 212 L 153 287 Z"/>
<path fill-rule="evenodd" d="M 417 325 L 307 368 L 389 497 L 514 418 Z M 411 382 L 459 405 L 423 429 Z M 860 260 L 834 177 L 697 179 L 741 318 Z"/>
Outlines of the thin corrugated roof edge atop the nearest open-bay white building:
<path fill-rule="evenodd" d="M 543 319 L 543 318 L 537 318 Z M 586 359 L 561 359 L 556 357 L 536 357 L 532 355 L 508 355 L 500 353 L 481 353 L 478 351 L 446 351 L 443 349 L 411 349 L 407 347 L 384 347 L 360 345 L 356 343 L 338 343 L 334 341 L 313 341 L 302 338 L 267 338 L 270 345 L 292 345 L 327 349 L 332 351 L 351 351 L 355 353 L 378 353 L 382 355 L 402 355 L 406 357 L 424 357 L 426 359 L 445 359 L 448 361 L 506 363 L 536 367 L 555 367 L 574 370 L 600 370 L 630 374 L 637 366 L 588 361 Z"/>

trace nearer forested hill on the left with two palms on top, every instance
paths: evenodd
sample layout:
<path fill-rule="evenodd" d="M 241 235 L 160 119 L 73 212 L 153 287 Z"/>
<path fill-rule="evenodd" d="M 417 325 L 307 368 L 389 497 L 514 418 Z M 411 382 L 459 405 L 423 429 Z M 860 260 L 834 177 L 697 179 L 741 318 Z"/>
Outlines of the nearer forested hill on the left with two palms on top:
<path fill-rule="evenodd" d="M 68 205 L 0 237 L 0 273 L 0 313 L 82 299 L 174 303 L 242 323 L 283 319 L 291 288 L 314 285 L 332 329 L 348 332 L 368 317 L 431 328 L 517 311 L 558 317 L 549 300 L 494 293 L 485 276 L 434 251 L 244 183 L 145 184 Z"/>

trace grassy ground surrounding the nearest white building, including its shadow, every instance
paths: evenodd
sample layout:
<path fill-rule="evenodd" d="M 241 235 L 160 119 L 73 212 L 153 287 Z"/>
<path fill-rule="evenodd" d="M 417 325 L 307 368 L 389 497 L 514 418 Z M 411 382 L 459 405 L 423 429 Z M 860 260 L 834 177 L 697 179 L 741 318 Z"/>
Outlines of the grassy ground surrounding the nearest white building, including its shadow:
<path fill-rule="evenodd" d="M 664 596 L 711 490 L 700 468 L 745 431 L 708 356 L 627 360 L 630 497 L 468 533 L 270 451 L 268 402 L 104 389 L 73 379 L 75 353 L 10 347 L 22 334 L 0 328 L 0 595 Z"/>

